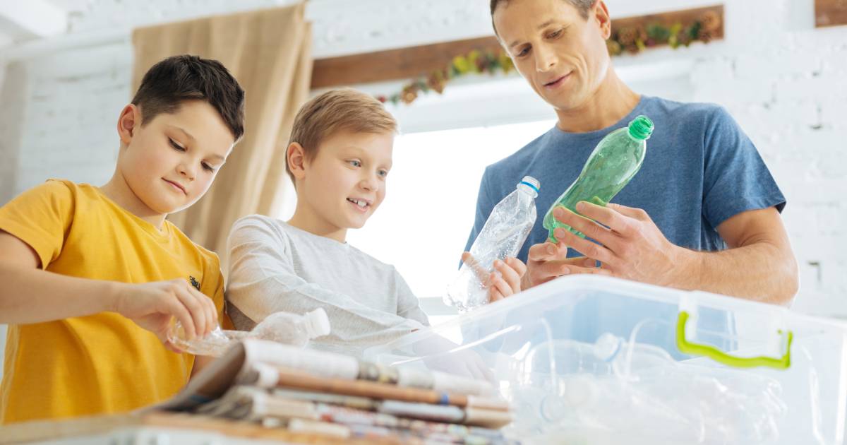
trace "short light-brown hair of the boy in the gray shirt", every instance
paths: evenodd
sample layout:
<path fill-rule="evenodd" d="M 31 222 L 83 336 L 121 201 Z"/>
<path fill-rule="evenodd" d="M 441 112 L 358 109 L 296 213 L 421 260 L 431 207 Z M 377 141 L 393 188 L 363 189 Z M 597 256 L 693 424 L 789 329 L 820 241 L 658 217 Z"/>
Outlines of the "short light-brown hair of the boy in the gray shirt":
<path fill-rule="evenodd" d="M 338 88 L 303 104 L 294 118 L 288 145 L 297 142 L 303 147 L 306 159 L 312 160 L 320 143 L 339 131 L 393 134 L 397 131 L 397 121 L 375 97 L 352 88 Z M 285 172 L 294 182 L 288 162 Z"/>

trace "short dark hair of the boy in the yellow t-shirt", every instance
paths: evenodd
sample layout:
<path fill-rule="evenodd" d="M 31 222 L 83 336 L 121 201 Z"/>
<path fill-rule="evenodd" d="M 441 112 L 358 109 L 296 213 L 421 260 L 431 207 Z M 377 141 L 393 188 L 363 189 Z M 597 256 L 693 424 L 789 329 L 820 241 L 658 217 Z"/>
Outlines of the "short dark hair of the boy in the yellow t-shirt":
<path fill-rule="evenodd" d="M 132 103 L 141 108 L 141 125 L 163 113 L 176 113 L 187 100 L 212 105 L 232 131 L 244 135 L 244 90 L 217 60 L 183 54 L 165 58 L 141 79 Z"/>

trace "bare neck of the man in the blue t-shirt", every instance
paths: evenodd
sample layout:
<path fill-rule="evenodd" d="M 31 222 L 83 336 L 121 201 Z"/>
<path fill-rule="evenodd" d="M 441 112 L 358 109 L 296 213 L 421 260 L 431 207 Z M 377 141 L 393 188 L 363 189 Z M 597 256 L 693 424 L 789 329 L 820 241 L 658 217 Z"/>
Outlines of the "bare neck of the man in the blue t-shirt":
<path fill-rule="evenodd" d="M 612 65 L 597 91 L 582 105 L 568 110 L 556 110 L 556 126 L 568 133 L 602 130 L 632 112 L 640 96 L 617 77 Z"/>

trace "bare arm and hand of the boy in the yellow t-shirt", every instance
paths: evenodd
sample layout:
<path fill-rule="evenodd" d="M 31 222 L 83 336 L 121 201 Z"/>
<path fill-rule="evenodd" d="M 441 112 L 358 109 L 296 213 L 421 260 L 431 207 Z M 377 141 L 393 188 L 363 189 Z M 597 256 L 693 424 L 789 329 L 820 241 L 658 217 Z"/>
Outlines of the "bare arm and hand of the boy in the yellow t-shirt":
<path fill-rule="evenodd" d="M 184 280 L 128 284 L 58 275 L 41 266 L 29 244 L 0 231 L 0 323 L 40 323 L 113 311 L 167 342 L 171 317 L 180 320 L 189 335 L 207 333 L 217 322 L 212 300 Z"/>

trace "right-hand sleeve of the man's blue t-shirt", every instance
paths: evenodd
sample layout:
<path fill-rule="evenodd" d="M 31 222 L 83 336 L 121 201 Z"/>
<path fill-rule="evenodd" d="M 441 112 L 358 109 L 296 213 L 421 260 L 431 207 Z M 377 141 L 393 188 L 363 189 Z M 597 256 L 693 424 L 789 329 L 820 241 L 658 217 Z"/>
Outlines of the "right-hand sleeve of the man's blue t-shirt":
<path fill-rule="evenodd" d="M 756 146 L 724 108 L 715 108 L 704 131 L 703 215 L 712 227 L 747 210 L 776 207 L 785 197 Z"/>

